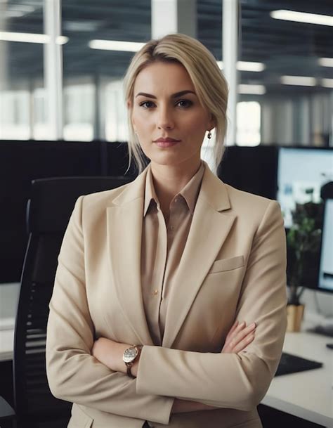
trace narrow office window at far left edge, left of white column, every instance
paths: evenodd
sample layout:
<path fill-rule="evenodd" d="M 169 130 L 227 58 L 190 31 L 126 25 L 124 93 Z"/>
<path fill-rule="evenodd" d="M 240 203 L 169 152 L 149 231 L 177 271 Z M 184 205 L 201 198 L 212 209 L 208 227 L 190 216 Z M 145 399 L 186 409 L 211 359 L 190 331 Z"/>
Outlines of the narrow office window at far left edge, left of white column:
<path fill-rule="evenodd" d="M 42 34 L 42 0 L 0 1 L 1 139 L 26 140 L 39 133 L 33 94 L 43 81 Z"/>

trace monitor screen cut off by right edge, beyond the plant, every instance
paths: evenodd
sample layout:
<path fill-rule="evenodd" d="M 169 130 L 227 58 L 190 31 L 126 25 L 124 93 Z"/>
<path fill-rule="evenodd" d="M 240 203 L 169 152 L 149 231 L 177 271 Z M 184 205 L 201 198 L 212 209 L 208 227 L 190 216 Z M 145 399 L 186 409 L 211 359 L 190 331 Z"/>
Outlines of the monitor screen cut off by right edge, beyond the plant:
<path fill-rule="evenodd" d="M 325 200 L 318 289 L 333 292 L 333 199 Z"/>

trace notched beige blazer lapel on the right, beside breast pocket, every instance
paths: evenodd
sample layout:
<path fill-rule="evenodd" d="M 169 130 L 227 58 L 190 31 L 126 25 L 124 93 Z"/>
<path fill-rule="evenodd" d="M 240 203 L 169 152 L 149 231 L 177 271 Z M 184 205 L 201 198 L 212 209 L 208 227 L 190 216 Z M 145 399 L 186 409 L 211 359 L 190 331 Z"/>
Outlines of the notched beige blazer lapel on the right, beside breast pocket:
<path fill-rule="evenodd" d="M 233 226 L 226 186 L 206 166 L 188 240 L 174 278 L 162 346 L 171 348 L 192 302 Z M 203 314 L 204 316 L 204 314 Z"/>

